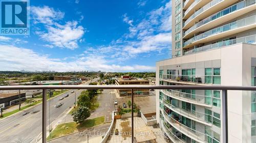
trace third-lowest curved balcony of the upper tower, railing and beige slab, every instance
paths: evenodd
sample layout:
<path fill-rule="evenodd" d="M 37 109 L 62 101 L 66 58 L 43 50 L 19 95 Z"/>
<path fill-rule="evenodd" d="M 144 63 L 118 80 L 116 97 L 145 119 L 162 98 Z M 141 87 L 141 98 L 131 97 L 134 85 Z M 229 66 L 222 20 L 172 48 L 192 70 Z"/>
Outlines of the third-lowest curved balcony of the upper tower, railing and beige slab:
<path fill-rule="evenodd" d="M 250 2 L 250 3 L 248 3 Z M 215 27 L 224 23 L 225 21 L 230 21 L 234 17 L 239 17 L 245 13 L 248 13 L 256 9 L 255 1 L 245 0 L 238 4 L 232 5 L 220 12 L 217 12 L 190 27 L 185 33 L 183 38 L 188 38 L 193 36 L 195 33 L 208 30 L 209 28 Z"/>

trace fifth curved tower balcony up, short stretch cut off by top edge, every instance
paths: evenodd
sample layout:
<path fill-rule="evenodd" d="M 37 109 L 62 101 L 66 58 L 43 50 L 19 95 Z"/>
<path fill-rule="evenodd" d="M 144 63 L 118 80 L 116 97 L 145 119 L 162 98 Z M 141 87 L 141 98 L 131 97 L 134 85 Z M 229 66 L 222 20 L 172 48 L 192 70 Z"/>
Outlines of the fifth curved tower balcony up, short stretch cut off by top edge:
<path fill-rule="evenodd" d="M 184 17 L 183 19 L 187 19 L 189 16 L 191 16 L 195 10 L 200 9 L 201 7 L 203 7 L 205 4 L 209 3 L 210 0 L 196 0 L 194 1 L 188 8 L 187 10 L 184 12 Z"/>

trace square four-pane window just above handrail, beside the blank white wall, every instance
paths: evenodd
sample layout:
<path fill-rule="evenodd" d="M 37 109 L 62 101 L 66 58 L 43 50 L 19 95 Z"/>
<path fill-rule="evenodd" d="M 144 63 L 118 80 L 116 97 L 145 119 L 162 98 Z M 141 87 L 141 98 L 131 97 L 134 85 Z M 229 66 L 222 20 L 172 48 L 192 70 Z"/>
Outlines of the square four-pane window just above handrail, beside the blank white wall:
<path fill-rule="evenodd" d="M 220 68 L 205 68 L 205 83 L 221 84 Z"/>

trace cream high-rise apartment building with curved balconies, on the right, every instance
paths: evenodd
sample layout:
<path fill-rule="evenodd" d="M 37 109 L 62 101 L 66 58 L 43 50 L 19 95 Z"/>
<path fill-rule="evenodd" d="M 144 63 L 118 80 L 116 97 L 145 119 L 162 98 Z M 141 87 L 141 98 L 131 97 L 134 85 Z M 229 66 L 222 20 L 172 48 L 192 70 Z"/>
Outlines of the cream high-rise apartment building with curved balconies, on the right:
<path fill-rule="evenodd" d="M 157 85 L 255 86 L 255 0 L 173 0 L 172 59 L 156 63 Z M 157 122 L 172 142 L 256 142 L 250 91 L 157 90 Z"/>

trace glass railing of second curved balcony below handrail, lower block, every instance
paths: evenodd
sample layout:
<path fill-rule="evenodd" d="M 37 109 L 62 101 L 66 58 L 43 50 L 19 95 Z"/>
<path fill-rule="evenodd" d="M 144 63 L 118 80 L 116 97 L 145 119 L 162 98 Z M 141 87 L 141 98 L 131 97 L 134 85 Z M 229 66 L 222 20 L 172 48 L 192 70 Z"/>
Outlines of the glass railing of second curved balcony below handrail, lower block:
<path fill-rule="evenodd" d="M 176 107 L 176 106 L 168 103 L 168 101 L 165 100 L 165 99 L 163 99 L 163 102 L 164 102 L 166 107 L 168 107 L 169 109 L 179 113 L 180 115 L 184 115 L 184 116 L 193 118 L 195 120 L 199 120 L 199 121 L 211 124 L 211 121 L 208 120 L 209 118 L 210 119 L 212 118 L 211 115 L 206 115 L 205 113 L 201 113 L 201 112 L 198 112 L 198 111 L 195 111 L 195 110 L 185 110 L 185 109 L 182 109 L 180 107 Z M 209 118 L 205 118 L 205 117 L 209 117 Z"/>

